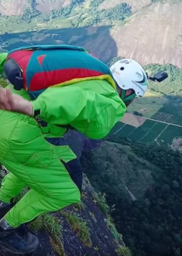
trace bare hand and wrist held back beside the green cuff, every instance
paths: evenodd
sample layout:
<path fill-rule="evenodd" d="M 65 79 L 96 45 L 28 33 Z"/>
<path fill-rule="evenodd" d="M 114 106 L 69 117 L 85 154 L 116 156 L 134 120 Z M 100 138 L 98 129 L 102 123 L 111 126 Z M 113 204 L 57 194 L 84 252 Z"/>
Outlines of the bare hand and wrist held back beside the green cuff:
<path fill-rule="evenodd" d="M 20 95 L 12 93 L 8 88 L 0 87 L 0 109 L 19 112 L 32 116 L 33 106 Z"/>

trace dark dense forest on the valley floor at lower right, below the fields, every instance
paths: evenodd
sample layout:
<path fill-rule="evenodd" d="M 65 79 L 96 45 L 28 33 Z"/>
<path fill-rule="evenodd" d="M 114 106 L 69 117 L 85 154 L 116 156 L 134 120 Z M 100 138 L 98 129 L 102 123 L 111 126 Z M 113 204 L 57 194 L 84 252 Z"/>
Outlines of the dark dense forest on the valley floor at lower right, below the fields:
<path fill-rule="evenodd" d="M 128 161 L 137 167 L 142 164 L 137 162 L 138 157 L 142 158 L 143 165 L 154 174 L 155 182 L 146 190 L 143 198 L 128 202 L 119 193 L 120 180 L 114 170 L 117 159 L 109 155 L 105 159 L 95 159 L 93 152 L 82 156 L 83 168 L 94 187 L 106 193 L 110 206 L 115 204 L 112 217 L 123 234 L 124 242 L 134 256 L 181 255 L 182 154 L 169 148 L 132 143 L 120 137 L 107 140 L 114 142 L 113 148 L 117 144 L 127 145 L 129 152 L 135 155 L 130 157 L 128 154 Z M 124 154 L 123 150 L 121 154 Z M 120 172 L 123 172 L 122 168 Z"/>

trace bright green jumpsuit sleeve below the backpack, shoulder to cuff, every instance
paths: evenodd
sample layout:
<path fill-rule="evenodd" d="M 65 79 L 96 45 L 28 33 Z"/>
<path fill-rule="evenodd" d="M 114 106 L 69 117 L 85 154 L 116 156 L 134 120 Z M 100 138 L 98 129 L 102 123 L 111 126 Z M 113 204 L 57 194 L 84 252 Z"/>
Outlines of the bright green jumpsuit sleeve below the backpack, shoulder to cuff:
<path fill-rule="evenodd" d="M 72 125 L 91 139 L 102 139 L 124 115 L 120 102 L 80 87 L 49 87 L 32 101 L 33 115 L 55 125 Z"/>

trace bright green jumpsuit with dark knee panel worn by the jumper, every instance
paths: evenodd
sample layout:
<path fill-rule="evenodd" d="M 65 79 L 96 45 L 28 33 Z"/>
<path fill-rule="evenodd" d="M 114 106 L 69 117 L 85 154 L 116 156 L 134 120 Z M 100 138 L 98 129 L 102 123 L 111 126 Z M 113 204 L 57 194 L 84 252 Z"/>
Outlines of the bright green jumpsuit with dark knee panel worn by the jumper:
<path fill-rule="evenodd" d="M 0 71 L 6 57 L 7 53 L 0 54 Z M 25 90 L 16 91 L 11 84 L 8 87 L 30 100 Z M 76 155 L 66 144 L 55 146 L 47 140 L 63 138 L 66 129 L 58 125 L 70 124 L 88 138 L 102 139 L 126 112 L 117 91 L 106 80 L 49 87 L 32 105 L 34 111 L 39 110 L 38 117 L 47 122 L 46 128 L 33 117 L 0 109 L 0 162 L 10 172 L 1 184 L 0 200 L 10 202 L 25 186 L 30 188 L 5 215 L 15 228 L 44 212 L 80 201 L 82 175 L 76 171 Z"/>

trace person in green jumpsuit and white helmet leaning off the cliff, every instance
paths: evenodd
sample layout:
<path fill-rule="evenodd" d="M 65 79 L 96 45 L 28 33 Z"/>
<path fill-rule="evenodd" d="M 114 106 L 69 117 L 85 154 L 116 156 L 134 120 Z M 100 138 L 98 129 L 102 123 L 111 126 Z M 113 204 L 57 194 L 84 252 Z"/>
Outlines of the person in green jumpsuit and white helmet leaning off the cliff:
<path fill-rule="evenodd" d="M 6 58 L 7 53 L 0 54 L 1 72 Z M 145 93 L 147 75 L 136 61 L 117 61 L 111 72 L 118 90 L 106 80 L 86 80 L 48 87 L 32 101 L 12 84 L 0 87 L 0 162 L 9 170 L 0 188 L 0 246 L 8 251 L 35 251 L 39 241 L 26 223 L 80 201 L 82 169 L 64 142 L 64 128 L 59 129 L 59 145 L 52 143 L 55 124 L 71 124 L 90 139 L 103 139 L 134 97 Z M 137 72 L 145 76 L 142 85 L 136 82 Z M 48 123 L 50 132 L 43 132 L 35 116 Z M 25 186 L 29 191 L 12 205 Z"/>

